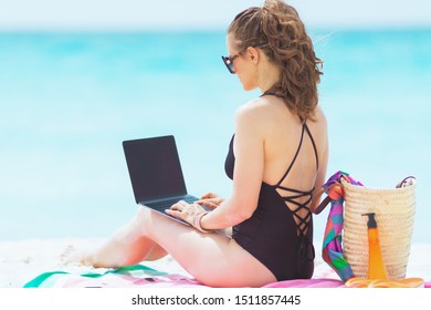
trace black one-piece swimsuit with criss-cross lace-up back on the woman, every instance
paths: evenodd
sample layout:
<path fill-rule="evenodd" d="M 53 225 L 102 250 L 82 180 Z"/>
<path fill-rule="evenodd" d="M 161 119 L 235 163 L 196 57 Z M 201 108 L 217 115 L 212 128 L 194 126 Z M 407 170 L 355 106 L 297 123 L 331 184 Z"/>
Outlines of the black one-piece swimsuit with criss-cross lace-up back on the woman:
<path fill-rule="evenodd" d="M 316 145 L 304 123 L 298 148 L 284 176 L 276 185 L 262 183 L 254 214 L 232 230 L 232 238 L 266 266 L 277 281 L 309 279 L 314 271 L 313 217 L 308 208 L 314 188 L 302 192 L 281 186 L 296 161 L 305 133 L 313 143 L 316 166 L 318 165 Z M 233 141 L 234 136 L 224 163 L 225 173 L 231 179 L 235 164 Z M 305 204 L 299 204 L 297 198 L 301 197 L 308 199 Z M 307 210 L 304 217 L 298 214 L 302 209 Z"/>

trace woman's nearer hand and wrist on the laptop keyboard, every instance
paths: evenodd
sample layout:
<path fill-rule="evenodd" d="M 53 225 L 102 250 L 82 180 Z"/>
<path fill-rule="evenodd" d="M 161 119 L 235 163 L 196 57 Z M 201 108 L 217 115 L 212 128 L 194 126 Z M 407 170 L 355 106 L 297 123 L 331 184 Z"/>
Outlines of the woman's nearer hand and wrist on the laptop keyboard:
<path fill-rule="evenodd" d="M 200 219 L 202 216 L 208 214 L 208 211 L 198 204 L 188 204 L 183 200 L 179 200 L 177 204 L 172 205 L 170 209 L 167 209 L 166 213 L 170 216 L 177 217 L 187 221 L 201 232 L 210 232 L 200 227 Z"/>

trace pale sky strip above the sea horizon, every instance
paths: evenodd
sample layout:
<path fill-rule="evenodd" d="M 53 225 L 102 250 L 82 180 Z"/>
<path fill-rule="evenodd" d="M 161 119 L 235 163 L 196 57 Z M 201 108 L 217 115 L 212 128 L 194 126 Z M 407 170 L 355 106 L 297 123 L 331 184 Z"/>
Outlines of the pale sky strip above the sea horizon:
<path fill-rule="evenodd" d="M 431 0 L 291 0 L 308 27 L 431 27 Z M 398 3 L 397 3 L 398 2 Z M 263 0 L 0 0 L 0 30 L 224 29 Z"/>

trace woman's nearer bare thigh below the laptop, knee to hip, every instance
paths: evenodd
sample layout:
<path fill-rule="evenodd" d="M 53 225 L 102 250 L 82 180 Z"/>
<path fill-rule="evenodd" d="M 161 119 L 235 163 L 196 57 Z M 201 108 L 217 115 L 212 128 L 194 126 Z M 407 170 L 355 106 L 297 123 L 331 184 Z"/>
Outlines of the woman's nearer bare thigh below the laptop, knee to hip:
<path fill-rule="evenodd" d="M 273 273 L 224 234 L 201 234 L 147 208 L 139 210 L 144 234 L 190 275 L 212 287 L 261 287 Z"/>

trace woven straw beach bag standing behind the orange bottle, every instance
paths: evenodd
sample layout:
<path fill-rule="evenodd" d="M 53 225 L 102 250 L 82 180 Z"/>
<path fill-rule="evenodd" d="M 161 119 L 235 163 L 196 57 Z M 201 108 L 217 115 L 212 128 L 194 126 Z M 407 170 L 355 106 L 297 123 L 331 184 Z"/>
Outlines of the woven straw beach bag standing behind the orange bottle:
<path fill-rule="evenodd" d="M 367 278 L 368 218 L 364 214 L 375 213 L 388 277 L 404 278 L 414 223 L 414 177 L 407 177 L 390 189 L 357 186 L 343 178 L 341 185 L 345 194 L 344 255 L 355 277 Z"/>

